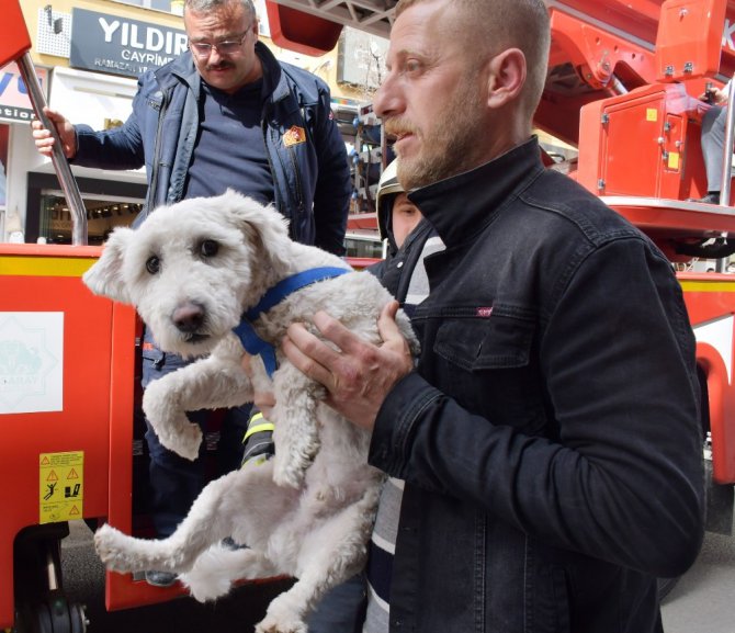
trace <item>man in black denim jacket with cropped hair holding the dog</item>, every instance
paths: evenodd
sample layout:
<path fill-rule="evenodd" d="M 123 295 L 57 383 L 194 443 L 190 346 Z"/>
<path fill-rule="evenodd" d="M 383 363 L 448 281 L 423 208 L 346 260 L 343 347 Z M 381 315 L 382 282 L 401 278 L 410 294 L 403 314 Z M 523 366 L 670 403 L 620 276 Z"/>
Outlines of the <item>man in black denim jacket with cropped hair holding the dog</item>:
<path fill-rule="evenodd" d="M 652 633 L 703 535 L 694 338 L 652 241 L 540 160 L 541 0 L 402 0 L 375 99 L 425 260 L 418 366 L 293 326 L 289 359 L 405 481 L 389 631 Z M 467 47 L 466 43 L 472 42 Z M 372 633 L 372 632 L 371 632 Z"/>

